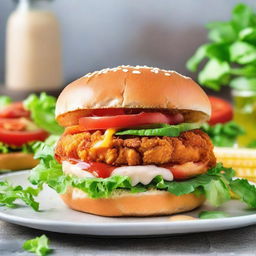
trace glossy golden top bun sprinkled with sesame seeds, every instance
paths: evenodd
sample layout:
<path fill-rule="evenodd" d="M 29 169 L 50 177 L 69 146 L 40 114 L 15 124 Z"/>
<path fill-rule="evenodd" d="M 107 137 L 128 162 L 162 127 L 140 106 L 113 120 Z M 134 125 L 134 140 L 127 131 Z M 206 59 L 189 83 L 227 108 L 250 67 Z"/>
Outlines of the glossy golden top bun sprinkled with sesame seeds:
<path fill-rule="evenodd" d="M 207 95 L 191 78 L 158 68 L 119 66 L 69 84 L 58 98 L 56 119 L 74 125 L 91 109 L 102 108 L 181 111 L 192 121 L 205 121 L 211 114 Z"/>

